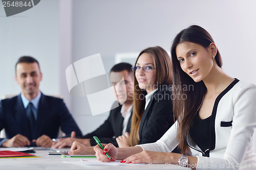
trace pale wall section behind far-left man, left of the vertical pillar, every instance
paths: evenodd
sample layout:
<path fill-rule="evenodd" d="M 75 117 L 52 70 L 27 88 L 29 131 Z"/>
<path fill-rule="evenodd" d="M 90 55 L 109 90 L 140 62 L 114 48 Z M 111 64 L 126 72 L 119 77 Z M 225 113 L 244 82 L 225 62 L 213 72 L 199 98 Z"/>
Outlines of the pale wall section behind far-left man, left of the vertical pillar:
<path fill-rule="evenodd" d="M 49 5 L 51 2 L 51 5 Z M 23 13 L 6 17 L 0 7 L 0 98 L 18 94 L 14 80 L 15 63 L 20 56 L 35 57 L 40 64 L 40 89 L 46 94 L 59 91 L 59 5 L 58 1 L 41 1 Z"/>

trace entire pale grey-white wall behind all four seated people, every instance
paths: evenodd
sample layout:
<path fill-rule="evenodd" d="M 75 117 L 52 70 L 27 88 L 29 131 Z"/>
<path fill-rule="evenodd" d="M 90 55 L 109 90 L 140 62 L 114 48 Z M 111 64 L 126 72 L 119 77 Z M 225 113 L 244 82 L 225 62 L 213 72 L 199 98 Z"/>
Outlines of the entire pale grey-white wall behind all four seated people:
<path fill-rule="evenodd" d="M 86 98 L 69 95 L 67 66 L 100 53 L 108 72 L 116 53 L 155 45 L 169 51 L 175 35 L 193 24 L 215 39 L 228 75 L 256 84 L 255 6 L 253 0 L 44 0 L 8 18 L 0 7 L 0 96 L 19 92 L 14 63 L 21 55 L 32 55 L 44 73 L 41 90 L 62 95 L 85 134 L 106 114 L 91 116 Z"/>

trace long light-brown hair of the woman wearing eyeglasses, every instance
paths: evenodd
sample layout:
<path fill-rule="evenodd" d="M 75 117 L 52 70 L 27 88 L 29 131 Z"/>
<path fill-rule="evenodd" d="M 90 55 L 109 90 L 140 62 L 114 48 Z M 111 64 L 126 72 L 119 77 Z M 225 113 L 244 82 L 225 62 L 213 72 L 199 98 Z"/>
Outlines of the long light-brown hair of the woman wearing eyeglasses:
<path fill-rule="evenodd" d="M 169 55 L 163 50 L 160 46 L 149 47 L 140 52 L 135 65 L 139 59 L 139 57 L 143 54 L 147 53 L 153 57 L 155 71 L 155 85 L 171 85 L 173 83 L 173 74 L 172 74 L 172 62 L 170 61 Z M 138 134 L 139 134 L 139 126 L 141 117 L 144 113 L 145 107 L 145 95 L 146 90 L 139 88 L 139 83 L 135 77 L 134 72 L 134 108 L 133 108 L 133 116 L 132 116 L 132 124 L 131 124 L 131 134 L 130 134 L 130 145 L 134 146 L 139 143 Z M 143 96 L 143 99 L 141 99 Z"/>

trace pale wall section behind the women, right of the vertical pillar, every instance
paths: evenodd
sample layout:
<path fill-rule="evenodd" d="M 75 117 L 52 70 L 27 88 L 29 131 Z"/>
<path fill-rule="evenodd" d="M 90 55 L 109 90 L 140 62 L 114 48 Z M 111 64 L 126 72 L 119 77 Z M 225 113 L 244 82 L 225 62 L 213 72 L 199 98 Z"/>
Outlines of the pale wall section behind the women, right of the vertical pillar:
<path fill-rule="evenodd" d="M 189 25 L 204 27 L 215 39 L 228 75 L 256 84 L 251 76 L 256 46 L 255 1 L 73 1 L 73 61 L 100 53 L 106 71 L 116 53 L 160 45 L 166 51 Z M 250 74 L 248 74 L 250 73 Z M 86 99 L 73 98 L 83 132 L 97 126 Z M 88 121 L 90 120 L 90 121 Z"/>

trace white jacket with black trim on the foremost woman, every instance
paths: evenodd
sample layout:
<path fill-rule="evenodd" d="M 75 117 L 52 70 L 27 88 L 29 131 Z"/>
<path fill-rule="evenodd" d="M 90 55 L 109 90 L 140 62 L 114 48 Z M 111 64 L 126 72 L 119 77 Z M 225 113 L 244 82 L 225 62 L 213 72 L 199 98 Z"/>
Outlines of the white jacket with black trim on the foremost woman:
<path fill-rule="evenodd" d="M 253 147 L 256 86 L 234 80 L 217 97 L 210 121 L 211 143 L 208 151 L 202 152 L 187 135 L 191 150 L 202 153 L 202 156 L 197 156 L 197 169 L 256 169 Z M 176 122 L 158 141 L 141 144 L 140 147 L 148 151 L 171 152 L 178 145 L 177 126 Z"/>

